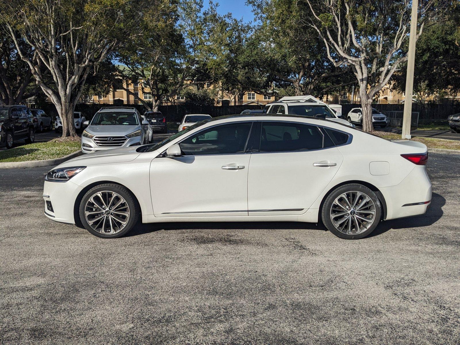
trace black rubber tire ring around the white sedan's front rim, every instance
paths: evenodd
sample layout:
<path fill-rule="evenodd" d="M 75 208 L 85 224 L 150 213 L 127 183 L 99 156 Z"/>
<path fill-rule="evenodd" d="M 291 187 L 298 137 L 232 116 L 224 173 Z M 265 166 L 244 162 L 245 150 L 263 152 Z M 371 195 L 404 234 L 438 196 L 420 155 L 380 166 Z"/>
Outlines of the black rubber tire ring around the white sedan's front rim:
<path fill-rule="evenodd" d="M 86 203 L 90 200 L 92 196 L 94 196 L 98 192 L 116 193 L 125 200 L 126 205 L 128 207 L 127 210 L 129 211 L 129 218 L 127 220 L 126 225 L 124 226 L 124 228 L 122 228 L 118 232 L 115 232 L 114 234 L 105 234 L 97 230 L 94 230 L 91 227 L 91 225 L 88 223 L 88 220 L 86 219 L 86 216 L 85 216 Z M 109 210 L 106 210 L 104 213 L 108 214 L 107 212 L 109 212 Z M 134 198 L 134 196 L 132 196 L 131 192 L 127 190 L 125 187 L 121 186 L 120 184 L 105 183 L 105 184 L 99 184 L 98 186 L 95 186 L 86 192 L 86 194 L 81 199 L 81 203 L 79 206 L 79 213 L 80 213 L 81 224 L 83 224 L 85 229 L 88 230 L 92 235 L 100 237 L 100 238 L 117 238 L 117 237 L 125 236 L 138 223 L 140 207 L 138 205 L 138 202 Z M 109 215 L 103 216 L 101 219 L 103 219 L 104 217 L 107 218 L 109 217 Z"/>

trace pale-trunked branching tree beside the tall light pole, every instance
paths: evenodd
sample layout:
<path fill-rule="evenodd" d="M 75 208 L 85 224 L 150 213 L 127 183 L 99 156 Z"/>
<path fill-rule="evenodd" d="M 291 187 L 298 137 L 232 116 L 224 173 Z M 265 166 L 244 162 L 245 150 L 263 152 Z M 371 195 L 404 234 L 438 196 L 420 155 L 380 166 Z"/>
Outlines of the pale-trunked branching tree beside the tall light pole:
<path fill-rule="evenodd" d="M 372 100 L 407 61 L 402 47 L 408 39 L 410 0 L 307 0 L 305 7 L 302 23 L 316 30 L 328 59 L 337 67 L 350 66 L 356 76 L 363 130 L 373 131 Z M 435 1 L 420 2 L 417 38 L 436 7 Z"/>

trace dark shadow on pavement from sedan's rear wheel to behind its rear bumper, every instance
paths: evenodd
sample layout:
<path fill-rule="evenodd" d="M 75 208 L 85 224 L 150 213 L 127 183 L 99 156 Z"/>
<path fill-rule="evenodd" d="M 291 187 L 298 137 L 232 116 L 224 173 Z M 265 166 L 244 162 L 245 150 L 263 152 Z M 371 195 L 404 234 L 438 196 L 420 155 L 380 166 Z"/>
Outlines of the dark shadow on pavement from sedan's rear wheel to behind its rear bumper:
<path fill-rule="evenodd" d="M 388 230 L 398 230 L 405 228 L 419 228 L 430 226 L 436 223 L 443 216 L 443 206 L 446 204 L 446 199 L 443 196 L 433 193 L 431 195 L 431 204 L 425 214 L 420 216 L 385 220 L 379 224 L 369 236 L 373 237 L 381 235 Z"/>

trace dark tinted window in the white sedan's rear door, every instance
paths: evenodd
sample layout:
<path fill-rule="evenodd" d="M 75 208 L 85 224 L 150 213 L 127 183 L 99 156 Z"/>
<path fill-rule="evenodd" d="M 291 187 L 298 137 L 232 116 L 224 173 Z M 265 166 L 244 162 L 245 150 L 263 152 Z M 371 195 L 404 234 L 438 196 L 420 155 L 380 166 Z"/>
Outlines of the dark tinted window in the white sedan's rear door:
<path fill-rule="evenodd" d="M 315 126 L 290 122 L 264 122 L 260 133 L 260 152 L 322 149 L 323 138 Z"/>

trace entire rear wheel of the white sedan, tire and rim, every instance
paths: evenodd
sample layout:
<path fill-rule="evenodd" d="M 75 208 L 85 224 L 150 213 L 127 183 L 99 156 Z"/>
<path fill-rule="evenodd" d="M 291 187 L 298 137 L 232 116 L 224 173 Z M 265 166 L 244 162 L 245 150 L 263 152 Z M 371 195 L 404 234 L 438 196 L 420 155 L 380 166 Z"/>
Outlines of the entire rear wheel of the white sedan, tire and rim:
<path fill-rule="evenodd" d="M 324 201 L 322 221 L 335 236 L 357 240 L 375 230 L 380 222 L 381 208 L 372 190 L 362 184 L 345 184 Z"/>

